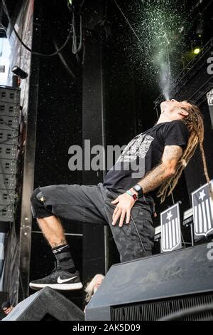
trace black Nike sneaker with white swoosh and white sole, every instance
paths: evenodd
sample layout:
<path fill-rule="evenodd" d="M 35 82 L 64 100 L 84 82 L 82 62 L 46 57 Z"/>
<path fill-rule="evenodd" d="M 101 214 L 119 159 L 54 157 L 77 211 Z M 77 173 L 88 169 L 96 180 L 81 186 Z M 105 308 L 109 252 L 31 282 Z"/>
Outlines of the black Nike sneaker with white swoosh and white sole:
<path fill-rule="evenodd" d="M 30 282 L 31 289 L 43 289 L 47 286 L 61 290 L 82 289 L 83 287 L 78 271 L 72 274 L 60 267 L 56 267 L 47 277 Z"/>

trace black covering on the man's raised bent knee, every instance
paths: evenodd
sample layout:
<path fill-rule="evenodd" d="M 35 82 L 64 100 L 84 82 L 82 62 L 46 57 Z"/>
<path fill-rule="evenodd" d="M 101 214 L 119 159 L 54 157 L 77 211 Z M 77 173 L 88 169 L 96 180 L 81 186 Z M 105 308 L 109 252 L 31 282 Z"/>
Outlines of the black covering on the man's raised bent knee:
<path fill-rule="evenodd" d="M 34 218 L 49 217 L 53 215 L 50 210 L 45 208 L 44 200 L 40 187 L 35 188 L 31 195 L 31 212 Z"/>

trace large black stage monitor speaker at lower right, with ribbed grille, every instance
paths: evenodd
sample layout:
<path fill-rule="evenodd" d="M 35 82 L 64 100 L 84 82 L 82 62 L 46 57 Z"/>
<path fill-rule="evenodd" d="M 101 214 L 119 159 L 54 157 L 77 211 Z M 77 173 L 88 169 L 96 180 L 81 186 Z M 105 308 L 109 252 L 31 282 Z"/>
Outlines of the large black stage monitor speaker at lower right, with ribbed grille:
<path fill-rule="evenodd" d="M 212 243 L 115 264 L 85 316 L 87 321 L 148 321 L 207 304 L 213 308 Z M 205 317 L 213 318 L 208 313 Z"/>

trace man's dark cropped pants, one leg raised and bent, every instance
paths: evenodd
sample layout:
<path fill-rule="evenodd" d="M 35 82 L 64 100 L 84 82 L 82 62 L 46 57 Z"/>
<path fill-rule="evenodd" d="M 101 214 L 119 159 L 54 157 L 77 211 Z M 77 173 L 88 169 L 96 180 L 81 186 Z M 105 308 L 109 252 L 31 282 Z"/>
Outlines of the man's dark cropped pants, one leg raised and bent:
<path fill-rule="evenodd" d="M 82 222 L 109 225 L 119 250 L 121 262 L 149 256 L 152 252 L 154 236 L 151 203 L 136 202 L 131 209 L 129 224 L 126 224 L 124 220 L 122 227 L 119 227 L 119 221 L 115 226 L 111 225 L 116 207 L 111 204 L 111 201 L 123 192 L 125 191 L 108 190 L 101 182 L 98 185 L 74 184 L 40 187 L 34 191 L 34 197 L 33 195 L 31 197 L 33 217 L 55 215 L 70 219 L 76 224 Z M 35 205 L 33 198 L 35 199 L 37 194 L 40 201 Z"/>

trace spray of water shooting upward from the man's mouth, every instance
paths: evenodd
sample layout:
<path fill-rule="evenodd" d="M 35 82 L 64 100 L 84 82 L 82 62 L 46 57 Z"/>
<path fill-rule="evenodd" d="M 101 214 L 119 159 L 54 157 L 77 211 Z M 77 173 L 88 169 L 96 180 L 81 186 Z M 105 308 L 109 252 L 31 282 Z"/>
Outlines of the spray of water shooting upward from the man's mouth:
<path fill-rule="evenodd" d="M 129 39 L 128 52 L 131 53 L 131 64 L 141 63 L 141 77 L 146 83 L 154 86 L 158 81 L 160 91 L 169 100 L 173 78 L 176 76 L 175 63 L 181 58 L 185 48 L 185 0 L 146 0 L 141 5 L 134 1 L 127 12 L 133 23 L 137 36 L 142 41 L 138 48 L 133 48 L 132 33 Z M 189 23 L 187 22 L 187 25 Z M 141 56 L 143 48 L 143 56 Z M 180 70 L 178 70 L 180 71 Z"/>

